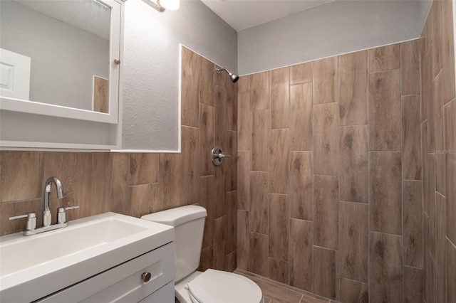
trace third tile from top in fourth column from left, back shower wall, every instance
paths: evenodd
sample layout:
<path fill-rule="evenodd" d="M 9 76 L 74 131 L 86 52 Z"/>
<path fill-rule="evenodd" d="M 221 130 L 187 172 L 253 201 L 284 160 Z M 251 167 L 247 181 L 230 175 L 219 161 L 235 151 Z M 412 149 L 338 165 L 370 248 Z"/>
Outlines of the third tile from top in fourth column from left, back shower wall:
<path fill-rule="evenodd" d="M 313 220 L 314 170 L 311 152 L 290 153 L 290 216 Z"/>

